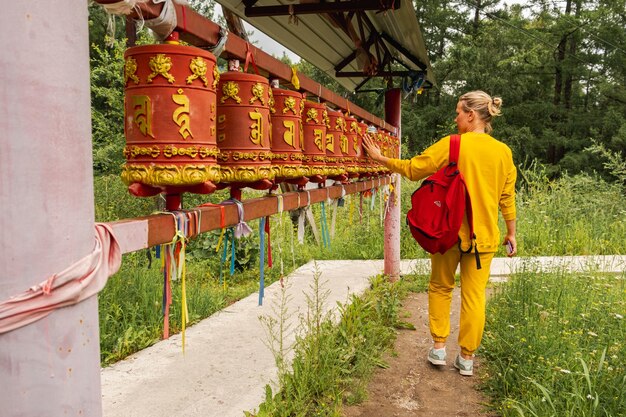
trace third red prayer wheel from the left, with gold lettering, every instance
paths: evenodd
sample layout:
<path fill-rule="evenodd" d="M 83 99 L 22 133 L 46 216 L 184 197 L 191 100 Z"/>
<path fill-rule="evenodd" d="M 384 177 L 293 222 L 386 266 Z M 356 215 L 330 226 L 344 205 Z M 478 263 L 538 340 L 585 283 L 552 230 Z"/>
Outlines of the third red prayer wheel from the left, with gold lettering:
<path fill-rule="evenodd" d="M 272 170 L 276 181 L 304 177 L 302 168 L 303 131 L 301 93 L 273 88 L 272 120 Z"/>

